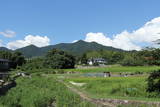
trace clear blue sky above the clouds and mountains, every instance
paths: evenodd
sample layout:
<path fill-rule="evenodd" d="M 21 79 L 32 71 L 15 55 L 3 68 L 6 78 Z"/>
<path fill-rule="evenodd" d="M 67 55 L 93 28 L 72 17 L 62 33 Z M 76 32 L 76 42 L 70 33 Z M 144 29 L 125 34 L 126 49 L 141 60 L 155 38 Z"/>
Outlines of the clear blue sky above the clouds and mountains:
<path fill-rule="evenodd" d="M 0 33 L 0 40 L 6 46 L 39 35 L 57 44 L 87 41 L 90 32 L 112 39 L 159 17 L 159 4 L 159 0 L 0 0 L 0 32 L 16 33 L 12 38 Z"/>

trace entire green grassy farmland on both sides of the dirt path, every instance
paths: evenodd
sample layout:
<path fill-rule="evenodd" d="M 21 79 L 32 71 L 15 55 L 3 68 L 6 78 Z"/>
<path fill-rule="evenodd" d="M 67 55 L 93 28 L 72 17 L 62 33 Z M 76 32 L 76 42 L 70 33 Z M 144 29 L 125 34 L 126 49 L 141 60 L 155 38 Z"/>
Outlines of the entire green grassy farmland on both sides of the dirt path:
<path fill-rule="evenodd" d="M 158 66 L 122 67 L 110 66 L 104 68 L 88 69 L 35 69 L 24 71 L 31 73 L 31 78 L 19 77 L 17 86 L 0 97 L 2 107 L 96 107 L 93 102 L 83 100 L 81 96 L 73 92 L 67 86 L 77 89 L 91 99 L 119 99 L 157 102 L 160 98 L 154 97 L 154 93 L 147 93 L 147 77 Z M 111 74 L 130 74 L 128 77 L 99 77 L 86 76 L 86 74 L 103 74 L 104 71 Z M 55 72 L 59 72 L 56 73 Z M 74 71 L 73 73 L 67 73 Z M 102 72 L 103 71 L 103 72 Z M 78 72 L 78 73 L 77 73 Z M 141 72 L 138 73 L 137 72 Z M 61 82 L 60 82 L 61 81 Z M 64 84 L 63 84 L 64 82 Z M 12 99 L 12 100 L 9 100 Z M 119 105 L 116 107 L 135 107 L 133 105 Z M 139 107 L 139 106 L 138 106 Z M 148 107 L 146 105 L 140 107 Z"/>

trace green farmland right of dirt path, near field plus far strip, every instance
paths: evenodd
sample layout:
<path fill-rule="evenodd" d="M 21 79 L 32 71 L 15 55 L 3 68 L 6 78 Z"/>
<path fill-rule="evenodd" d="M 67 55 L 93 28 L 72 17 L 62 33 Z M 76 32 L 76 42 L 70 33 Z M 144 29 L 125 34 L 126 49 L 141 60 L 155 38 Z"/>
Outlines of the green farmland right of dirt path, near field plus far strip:
<path fill-rule="evenodd" d="M 82 74 L 99 73 L 101 71 L 110 71 L 114 73 L 133 73 L 128 77 L 96 77 L 72 75 L 66 76 L 65 82 L 72 85 L 76 89 L 82 91 L 86 95 L 94 99 L 121 99 L 158 102 L 160 98 L 156 98 L 154 93 L 146 92 L 147 77 L 153 70 L 157 70 L 158 66 L 138 66 L 138 67 L 120 67 L 113 66 L 108 68 L 92 68 L 78 69 Z M 136 75 L 136 72 L 141 72 Z M 124 106 L 124 105 L 123 105 Z M 122 107 L 123 107 L 122 106 Z M 126 107 L 134 107 L 128 105 Z M 144 107 L 148 107 L 144 105 Z"/>

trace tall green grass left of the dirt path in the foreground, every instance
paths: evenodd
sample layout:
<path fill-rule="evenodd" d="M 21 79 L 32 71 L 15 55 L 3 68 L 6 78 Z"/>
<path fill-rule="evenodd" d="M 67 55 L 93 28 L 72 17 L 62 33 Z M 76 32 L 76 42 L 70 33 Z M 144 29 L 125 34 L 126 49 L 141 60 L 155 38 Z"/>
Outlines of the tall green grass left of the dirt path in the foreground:
<path fill-rule="evenodd" d="M 56 81 L 54 76 L 18 78 L 17 86 L 0 97 L 2 107 L 94 107 Z"/>

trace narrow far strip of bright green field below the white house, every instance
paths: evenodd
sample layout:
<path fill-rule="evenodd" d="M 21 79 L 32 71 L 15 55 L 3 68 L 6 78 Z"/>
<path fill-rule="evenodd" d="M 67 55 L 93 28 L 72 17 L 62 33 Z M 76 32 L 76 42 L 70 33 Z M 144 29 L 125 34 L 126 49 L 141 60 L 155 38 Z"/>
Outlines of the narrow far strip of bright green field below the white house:
<path fill-rule="evenodd" d="M 97 67 L 97 68 L 84 68 L 84 69 L 66 69 L 65 71 L 77 71 L 81 73 L 86 72 L 150 72 L 160 69 L 160 66 L 111 66 L 111 67 Z"/>

